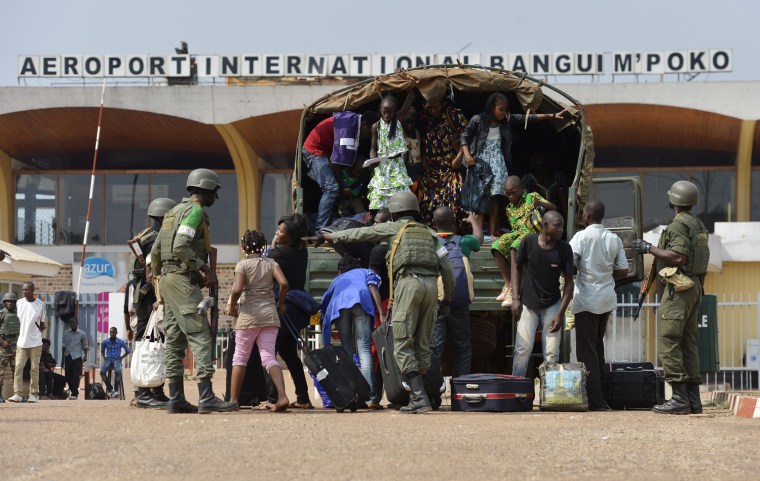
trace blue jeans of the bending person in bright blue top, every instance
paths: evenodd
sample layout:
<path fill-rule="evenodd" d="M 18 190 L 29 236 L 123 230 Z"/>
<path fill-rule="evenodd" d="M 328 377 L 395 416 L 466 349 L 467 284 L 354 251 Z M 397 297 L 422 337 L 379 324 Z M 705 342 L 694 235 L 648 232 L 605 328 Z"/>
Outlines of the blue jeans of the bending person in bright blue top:
<path fill-rule="evenodd" d="M 361 304 L 355 304 L 350 309 L 341 309 L 340 316 L 335 320 L 343 348 L 351 357 L 358 351 L 359 369 L 370 388 L 375 385 L 375 365 L 372 361 L 372 323 L 374 321 L 375 318 L 364 312 Z M 354 340 L 356 340 L 356 348 L 354 348 Z M 369 400 L 379 403 L 380 396 L 373 390 L 370 392 Z"/>

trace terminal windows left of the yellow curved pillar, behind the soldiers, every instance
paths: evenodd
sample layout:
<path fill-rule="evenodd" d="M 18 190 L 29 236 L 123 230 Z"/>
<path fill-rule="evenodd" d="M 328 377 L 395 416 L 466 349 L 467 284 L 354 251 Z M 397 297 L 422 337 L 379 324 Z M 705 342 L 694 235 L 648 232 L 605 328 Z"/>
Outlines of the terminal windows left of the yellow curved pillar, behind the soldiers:
<path fill-rule="evenodd" d="M 76 245 L 84 238 L 90 174 L 16 176 L 17 244 Z M 148 226 L 148 204 L 157 197 L 187 196 L 186 173 L 98 174 L 95 176 L 88 244 L 123 244 Z M 220 198 L 208 209 L 212 240 L 237 243 L 237 182 L 221 173 Z"/>

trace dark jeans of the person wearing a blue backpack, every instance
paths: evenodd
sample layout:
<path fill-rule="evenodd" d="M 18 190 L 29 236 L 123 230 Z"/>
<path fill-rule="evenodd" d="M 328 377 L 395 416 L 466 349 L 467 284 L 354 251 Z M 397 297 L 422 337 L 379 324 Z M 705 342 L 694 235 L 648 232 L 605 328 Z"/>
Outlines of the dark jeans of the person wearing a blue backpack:
<path fill-rule="evenodd" d="M 433 353 L 441 360 L 446 336 L 451 340 L 454 358 L 451 366 L 451 376 L 458 377 L 470 374 L 472 364 L 472 342 L 470 335 L 470 308 L 451 308 L 449 317 L 435 321 L 433 330 Z"/>

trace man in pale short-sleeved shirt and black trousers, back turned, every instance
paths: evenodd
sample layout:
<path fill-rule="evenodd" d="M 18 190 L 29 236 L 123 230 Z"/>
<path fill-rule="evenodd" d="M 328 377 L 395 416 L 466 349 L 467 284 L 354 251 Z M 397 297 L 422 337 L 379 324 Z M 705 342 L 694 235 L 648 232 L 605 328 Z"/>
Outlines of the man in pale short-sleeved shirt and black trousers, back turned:
<path fill-rule="evenodd" d="M 591 411 L 608 409 L 602 391 L 604 333 L 610 312 L 617 306 L 615 279 L 628 275 L 623 241 L 602 227 L 603 218 L 604 204 L 590 201 L 583 208 L 587 227 L 570 241 L 578 269 L 573 296 L 576 352 L 589 371 L 586 391 Z"/>

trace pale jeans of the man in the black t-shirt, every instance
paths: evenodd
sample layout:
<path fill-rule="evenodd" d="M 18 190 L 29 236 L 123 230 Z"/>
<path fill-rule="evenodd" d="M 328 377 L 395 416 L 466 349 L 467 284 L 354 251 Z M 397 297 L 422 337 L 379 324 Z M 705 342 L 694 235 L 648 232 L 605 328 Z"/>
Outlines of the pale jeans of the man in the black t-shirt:
<path fill-rule="evenodd" d="M 523 306 L 520 321 L 517 323 L 517 336 L 515 339 L 515 357 L 512 362 L 512 375 L 523 376 L 528 372 L 530 353 L 533 352 L 533 341 L 536 338 L 536 329 L 541 325 L 541 334 L 544 347 L 544 361 L 559 361 L 559 343 L 562 329 L 557 332 L 549 332 L 551 320 L 559 312 L 561 301 L 545 309 L 531 309 Z"/>

